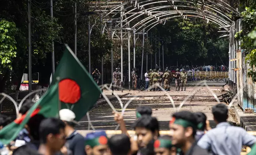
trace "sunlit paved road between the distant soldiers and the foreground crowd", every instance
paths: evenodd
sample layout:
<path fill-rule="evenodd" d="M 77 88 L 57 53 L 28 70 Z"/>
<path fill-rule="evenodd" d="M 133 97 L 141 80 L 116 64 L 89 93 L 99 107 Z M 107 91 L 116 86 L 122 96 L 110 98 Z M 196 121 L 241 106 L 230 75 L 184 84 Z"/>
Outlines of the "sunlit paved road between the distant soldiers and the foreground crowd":
<path fill-rule="evenodd" d="M 217 95 L 221 93 L 223 87 L 210 87 L 210 89 Z M 124 93 L 128 92 L 127 90 Z M 193 92 L 194 95 L 193 95 Z M 171 118 L 171 114 L 177 110 L 171 104 L 170 99 L 167 97 L 167 92 L 145 92 L 145 91 L 131 91 L 131 94 L 124 96 L 122 98 L 122 103 L 126 104 L 130 99 L 133 101 L 129 104 L 126 111 L 124 112 L 124 120 L 126 122 L 127 128 L 136 119 L 136 107 L 139 105 L 150 106 L 153 110 L 153 116 L 157 117 L 160 123 L 161 130 L 168 130 L 168 124 Z M 211 126 L 214 127 L 215 123 L 213 121 L 213 115 L 211 114 L 211 106 L 217 104 L 213 95 L 206 87 L 187 87 L 187 91 L 170 91 L 168 94 L 173 98 L 175 107 L 178 107 L 180 103 L 190 97 L 180 110 L 188 110 L 191 112 L 204 112 Z M 121 112 L 121 106 L 118 101 L 112 101 L 114 108 Z M 114 130 L 117 123 L 114 121 L 112 115 L 112 109 L 108 104 L 102 105 L 95 108 L 89 112 L 91 123 L 96 130 Z M 233 118 L 233 111 L 230 113 L 229 121 L 235 123 Z M 76 127 L 77 130 L 88 130 L 88 120 L 87 117 L 83 117 L 80 121 L 80 126 Z"/>

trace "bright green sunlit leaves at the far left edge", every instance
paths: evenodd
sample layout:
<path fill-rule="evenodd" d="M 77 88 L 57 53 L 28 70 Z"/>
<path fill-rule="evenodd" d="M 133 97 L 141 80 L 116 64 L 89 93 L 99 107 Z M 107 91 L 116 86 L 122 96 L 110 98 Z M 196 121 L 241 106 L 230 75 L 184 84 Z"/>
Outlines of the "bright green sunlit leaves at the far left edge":
<path fill-rule="evenodd" d="M 15 23 L 2 19 L 0 21 L 0 61 L 1 68 L 12 69 L 12 58 L 16 57 L 16 40 L 14 35 L 17 32 Z"/>

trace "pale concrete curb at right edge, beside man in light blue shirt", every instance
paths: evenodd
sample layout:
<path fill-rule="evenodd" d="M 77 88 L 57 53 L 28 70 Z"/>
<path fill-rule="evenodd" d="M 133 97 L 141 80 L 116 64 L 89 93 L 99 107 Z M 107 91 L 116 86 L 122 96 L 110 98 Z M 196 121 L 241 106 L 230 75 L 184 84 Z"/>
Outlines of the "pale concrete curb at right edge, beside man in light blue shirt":
<path fill-rule="evenodd" d="M 237 104 L 234 106 L 234 110 L 240 127 L 246 131 L 256 131 L 256 115 L 254 113 L 243 113 Z"/>

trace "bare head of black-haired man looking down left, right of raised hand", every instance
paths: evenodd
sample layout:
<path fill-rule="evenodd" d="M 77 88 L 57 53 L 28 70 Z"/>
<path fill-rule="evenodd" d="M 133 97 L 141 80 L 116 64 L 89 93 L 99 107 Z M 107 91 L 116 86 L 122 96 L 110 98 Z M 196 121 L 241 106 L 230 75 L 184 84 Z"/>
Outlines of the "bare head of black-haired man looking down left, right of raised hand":
<path fill-rule="evenodd" d="M 139 147 L 146 147 L 151 140 L 159 136 L 159 124 L 155 117 L 143 115 L 134 122 L 132 127 L 138 136 Z"/>

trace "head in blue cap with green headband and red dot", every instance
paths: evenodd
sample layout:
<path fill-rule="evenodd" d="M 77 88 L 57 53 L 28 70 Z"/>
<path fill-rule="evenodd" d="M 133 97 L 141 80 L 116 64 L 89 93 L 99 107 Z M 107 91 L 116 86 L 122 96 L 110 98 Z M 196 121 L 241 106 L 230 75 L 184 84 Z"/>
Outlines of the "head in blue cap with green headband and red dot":
<path fill-rule="evenodd" d="M 85 153 L 87 155 L 107 155 L 108 139 L 105 131 L 92 132 L 85 137 Z"/>

